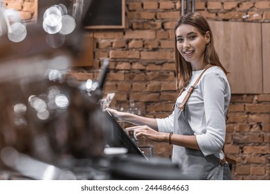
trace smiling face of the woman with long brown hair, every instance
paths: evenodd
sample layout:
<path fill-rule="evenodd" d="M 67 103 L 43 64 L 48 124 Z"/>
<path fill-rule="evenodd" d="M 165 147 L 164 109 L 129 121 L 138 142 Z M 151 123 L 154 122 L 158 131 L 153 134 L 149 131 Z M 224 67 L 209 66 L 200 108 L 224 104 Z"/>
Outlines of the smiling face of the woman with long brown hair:
<path fill-rule="evenodd" d="M 204 66 L 204 50 L 210 42 L 209 32 L 201 35 L 195 26 L 181 24 L 175 31 L 177 37 L 177 50 L 183 58 L 190 62 L 192 69 Z"/>

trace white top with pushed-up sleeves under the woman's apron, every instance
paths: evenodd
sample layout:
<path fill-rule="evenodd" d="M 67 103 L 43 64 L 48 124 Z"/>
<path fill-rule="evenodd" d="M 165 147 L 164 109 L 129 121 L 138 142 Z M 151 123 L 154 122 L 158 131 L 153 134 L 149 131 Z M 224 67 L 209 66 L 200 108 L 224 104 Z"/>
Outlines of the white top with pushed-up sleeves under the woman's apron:
<path fill-rule="evenodd" d="M 192 71 L 186 90 L 177 98 L 181 103 L 191 85 L 203 70 Z M 231 89 L 226 75 L 219 67 L 210 67 L 197 83 L 186 104 L 188 123 L 194 132 L 204 156 L 215 155 L 222 159 L 226 135 L 226 113 L 231 100 Z M 156 118 L 159 132 L 172 132 L 174 112 L 167 118 Z M 179 124 L 181 126 L 181 123 Z"/>

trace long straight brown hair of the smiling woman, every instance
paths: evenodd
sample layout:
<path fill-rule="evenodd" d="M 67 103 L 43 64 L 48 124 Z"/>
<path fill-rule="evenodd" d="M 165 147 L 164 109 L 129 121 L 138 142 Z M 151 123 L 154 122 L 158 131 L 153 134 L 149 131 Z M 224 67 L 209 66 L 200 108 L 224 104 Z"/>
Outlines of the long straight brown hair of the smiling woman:
<path fill-rule="evenodd" d="M 219 61 L 217 52 L 215 51 L 213 33 L 206 19 L 196 12 L 190 12 L 187 15 L 183 15 L 182 17 L 180 17 L 180 19 L 177 21 L 177 24 L 175 25 L 174 34 L 177 28 L 181 26 L 181 24 L 189 24 L 191 26 L 195 26 L 195 28 L 199 30 L 201 35 L 206 35 L 206 32 L 209 31 L 210 42 L 206 44 L 206 49 L 204 51 L 204 60 L 207 64 L 222 68 L 224 73 L 227 74 L 228 71 L 226 71 L 226 69 L 222 66 L 221 62 Z M 192 67 L 190 62 L 187 62 L 177 50 L 176 37 L 174 39 L 174 49 L 177 89 L 183 89 L 183 87 L 186 87 L 190 82 L 192 76 Z"/>

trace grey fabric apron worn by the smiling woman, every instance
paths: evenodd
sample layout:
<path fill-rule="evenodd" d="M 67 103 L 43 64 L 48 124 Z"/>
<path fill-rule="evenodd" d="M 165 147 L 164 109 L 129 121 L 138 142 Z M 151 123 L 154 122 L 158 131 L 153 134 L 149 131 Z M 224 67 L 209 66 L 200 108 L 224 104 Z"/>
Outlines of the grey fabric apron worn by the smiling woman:
<path fill-rule="evenodd" d="M 194 135 L 186 116 L 186 110 L 174 106 L 174 134 Z M 204 157 L 201 150 L 193 150 L 173 145 L 172 162 L 179 165 L 180 173 L 195 179 L 223 179 L 221 159 L 215 155 Z"/>

